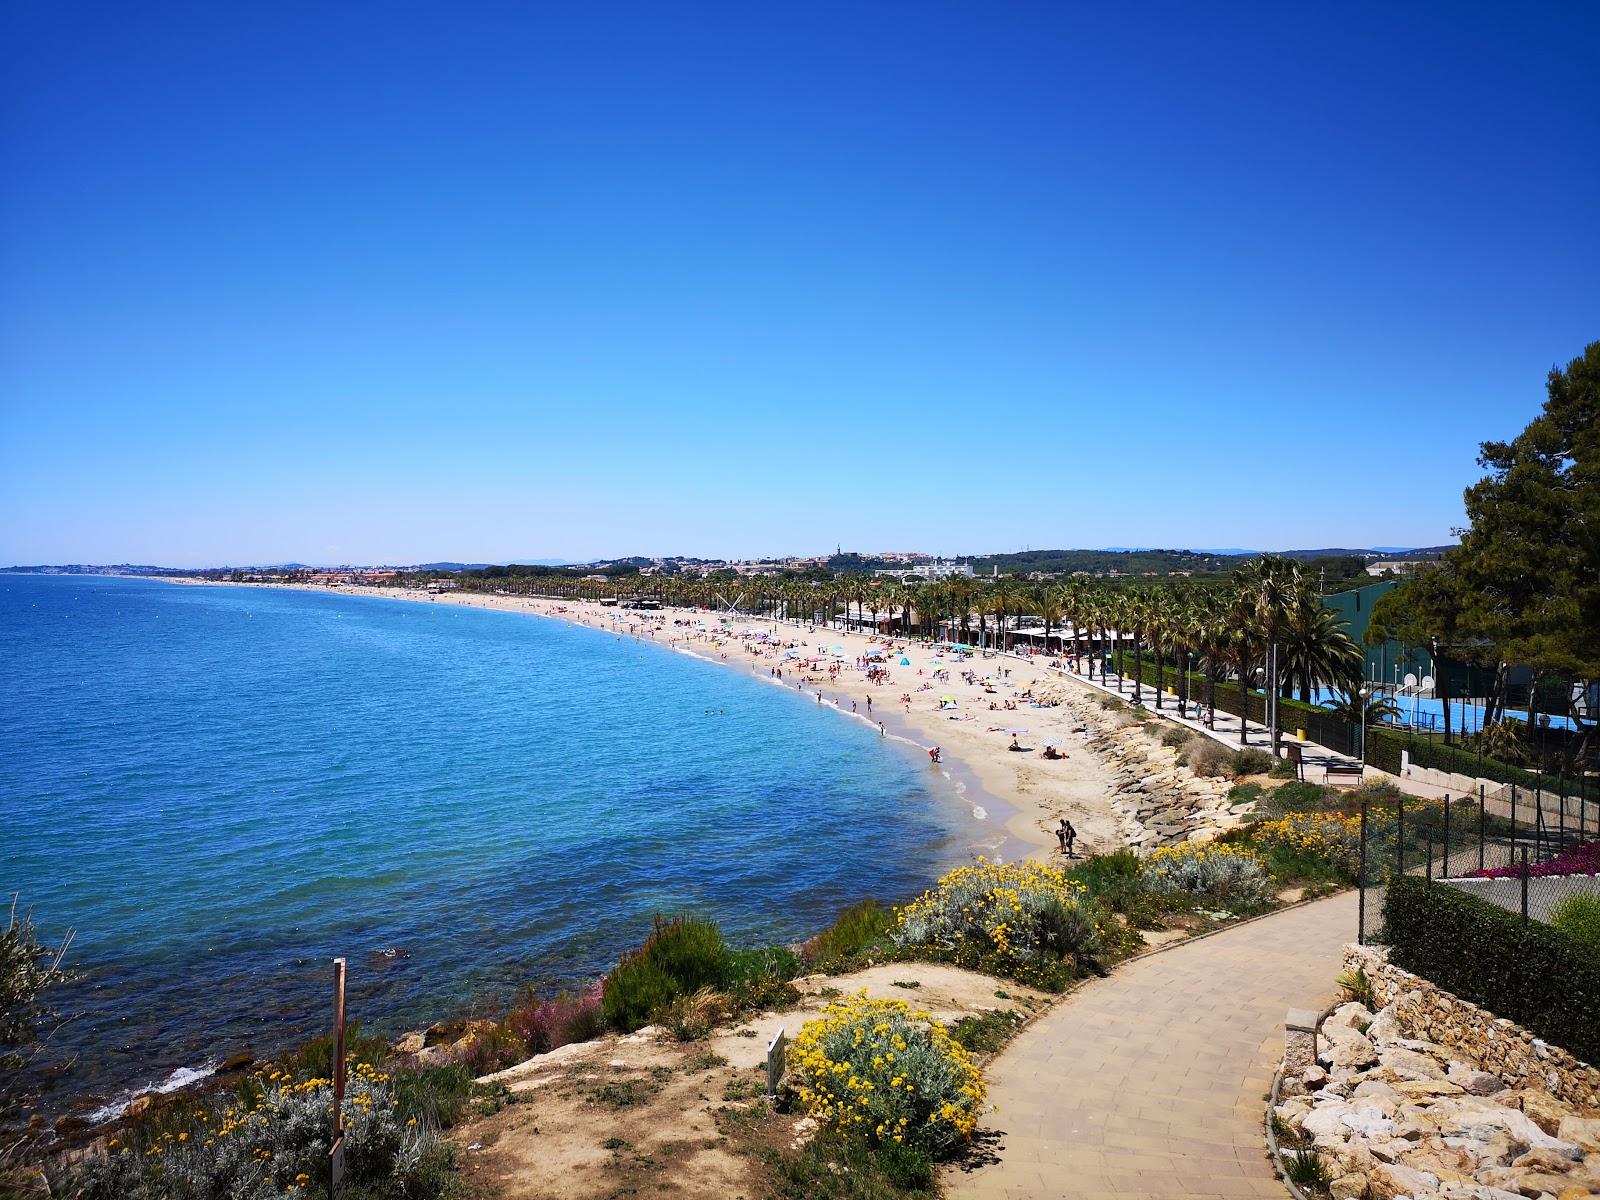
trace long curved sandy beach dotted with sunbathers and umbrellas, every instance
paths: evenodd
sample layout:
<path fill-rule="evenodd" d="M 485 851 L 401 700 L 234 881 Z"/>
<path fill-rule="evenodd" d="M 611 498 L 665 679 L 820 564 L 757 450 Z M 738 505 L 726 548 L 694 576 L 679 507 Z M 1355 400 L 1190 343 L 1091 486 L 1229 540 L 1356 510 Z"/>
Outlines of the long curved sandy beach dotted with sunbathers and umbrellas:
<path fill-rule="evenodd" d="M 1070 819 L 1077 829 L 1080 854 L 1126 845 L 1123 824 L 1112 808 L 1117 790 L 1112 770 L 1090 749 L 1090 733 L 1085 731 L 1085 714 L 1094 699 L 1086 688 L 1061 682 L 1043 658 L 1030 661 L 974 653 L 958 661 L 962 656 L 922 642 L 699 608 L 642 611 L 483 592 L 331 590 L 320 584 L 210 579 L 176 582 L 293 587 L 330 595 L 464 605 L 638 637 L 805 690 L 846 717 L 869 720 L 874 726 L 882 723 L 885 736 L 906 738 L 923 749 L 938 746 L 941 768 L 957 782 L 965 778 L 981 790 L 981 797 L 973 797 L 974 810 L 992 810 L 984 816 L 1003 834 L 992 843 L 998 858 L 1059 854 L 1054 830 L 1061 818 Z M 885 675 L 874 678 L 869 675 L 872 669 L 882 669 Z M 1030 696 L 1042 688 L 1056 698 L 1066 696 L 1067 702 L 1035 706 Z M 902 698 L 909 698 L 909 704 Z M 1013 750 L 1013 742 L 1022 749 Z M 1042 757 L 1046 746 L 1066 757 Z M 984 797 L 998 805 L 987 803 Z"/>

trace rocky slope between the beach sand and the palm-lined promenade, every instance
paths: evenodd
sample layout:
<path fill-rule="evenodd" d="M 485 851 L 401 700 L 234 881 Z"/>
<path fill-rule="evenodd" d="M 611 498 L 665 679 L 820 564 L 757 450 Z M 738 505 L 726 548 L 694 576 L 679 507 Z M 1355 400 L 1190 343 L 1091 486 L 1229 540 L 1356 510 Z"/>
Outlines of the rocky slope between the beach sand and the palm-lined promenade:
<path fill-rule="evenodd" d="M 1178 842 L 1208 842 L 1242 824 L 1250 806 L 1229 808 L 1229 782 L 1203 779 L 1179 766 L 1178 750 L 1163 746 L 1163 730 L 1178 725 L 1136 720 L 1126 709 L 1107 709 L 1066 683 L 1035 688 L 1046 704 L 1066 704 L 1077 718 L 1072 731 L 1099 757 L 1110 778 L 1110 810 L 1123 840 L 1149 853 Z"/>

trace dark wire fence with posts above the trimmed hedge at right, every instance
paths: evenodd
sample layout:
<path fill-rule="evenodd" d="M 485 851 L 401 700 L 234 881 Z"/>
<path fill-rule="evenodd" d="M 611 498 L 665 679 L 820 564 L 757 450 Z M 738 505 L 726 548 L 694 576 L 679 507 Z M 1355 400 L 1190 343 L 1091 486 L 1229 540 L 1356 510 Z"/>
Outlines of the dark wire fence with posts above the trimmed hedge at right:
<path fill-rule="evenodd" d="M 1517 784 L 1443 800 L 1363 802 L 1362 941 L 1384 941 L 1386 888 L 1402 874 L 1549 922 L 1568 896 L 1600 898 L 1600 802 Z"/>

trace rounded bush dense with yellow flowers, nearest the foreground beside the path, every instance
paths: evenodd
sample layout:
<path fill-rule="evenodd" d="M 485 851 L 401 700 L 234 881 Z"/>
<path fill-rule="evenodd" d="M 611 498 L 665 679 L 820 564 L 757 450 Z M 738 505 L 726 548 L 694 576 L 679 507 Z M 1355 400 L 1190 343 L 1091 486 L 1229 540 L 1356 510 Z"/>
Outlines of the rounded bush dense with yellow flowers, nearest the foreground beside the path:
<path fill-rule="evenodd" d="M 808 1021 L 789 1059 L 800 1101 L 822 1125 L 875 1144 L 949 1154 L 984 1102 L 978 1066 L 926 1013 L 866 989 Z"/>

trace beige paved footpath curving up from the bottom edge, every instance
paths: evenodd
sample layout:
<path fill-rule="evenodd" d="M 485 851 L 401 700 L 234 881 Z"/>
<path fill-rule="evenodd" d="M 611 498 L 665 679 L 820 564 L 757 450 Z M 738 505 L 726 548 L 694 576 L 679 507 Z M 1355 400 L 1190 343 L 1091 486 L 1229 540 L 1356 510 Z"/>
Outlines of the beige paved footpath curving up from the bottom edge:
<path fill-rule="evenodd" d="M 1078 987 L 990 1066 L 998 1162 L 968 1200 L 1277 1197 L 1262 1114 L 1283 1016 L 1334 998 L 1355 893 L 1179 942 Z"/>

